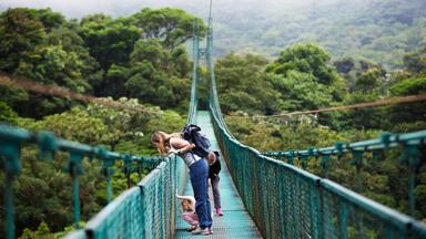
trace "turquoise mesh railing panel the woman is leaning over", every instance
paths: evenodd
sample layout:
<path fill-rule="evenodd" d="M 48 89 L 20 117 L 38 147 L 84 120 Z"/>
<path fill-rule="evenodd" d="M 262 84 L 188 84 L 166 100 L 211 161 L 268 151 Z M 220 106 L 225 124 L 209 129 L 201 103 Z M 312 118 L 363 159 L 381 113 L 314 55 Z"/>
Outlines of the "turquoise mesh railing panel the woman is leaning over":
<path fill-rule="evenodd" d="M 185 184 L 183 160 L 164 160 L 135 187 L 104 207 L 85 226 L 84 233 L 69 238 L 172 238 L 176 188 Z"/>

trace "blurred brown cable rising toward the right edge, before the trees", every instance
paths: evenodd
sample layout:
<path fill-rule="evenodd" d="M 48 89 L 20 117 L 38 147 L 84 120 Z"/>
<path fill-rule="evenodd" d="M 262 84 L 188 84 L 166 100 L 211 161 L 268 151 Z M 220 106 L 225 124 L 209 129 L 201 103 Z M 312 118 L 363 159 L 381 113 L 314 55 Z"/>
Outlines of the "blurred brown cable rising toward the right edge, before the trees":
<path fill-rule="evenodd" d="M 406 103 L 415 103 L 415 102 L 424 102 L 424 101 L 426 101 L 426 94 L 418 94 L 418 95 L 407 95 L 407 96 L 399 96 L 399 97 L 388 97 L 388 98 L 383 98 L 375 102 L 365 102 L 365 103 L 353 104 L 353 105 L 342 105 L 342 106 L 335 106 L 335 107 L 318 108 L 318 110 L 303 111 L 303 112 L 292 112 L 292 113 L 285 113 L 285 114 L 276 114 L 276 115 L 253 115 L 253 116 L 227 115 L 227 117 L 267 118 L 267 117 L 295 116 L 295 115 L 317 114 L 323 112 L 345 111 L 345 110 L 352 110 L 352 108 L 385 106 L 390 104 L 406 104 Z"/>

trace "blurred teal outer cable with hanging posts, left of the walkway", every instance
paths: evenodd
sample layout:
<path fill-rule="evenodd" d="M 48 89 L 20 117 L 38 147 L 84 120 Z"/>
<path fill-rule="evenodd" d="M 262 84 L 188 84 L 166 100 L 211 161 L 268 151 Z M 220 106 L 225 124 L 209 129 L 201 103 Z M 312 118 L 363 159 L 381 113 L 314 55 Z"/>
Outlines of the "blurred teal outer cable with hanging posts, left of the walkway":
<path fill-rule="evenodd" d="M 111 176 L 112 166 L 115 160 L 124 162 L 124 173 L 130 180 L 131 173 L 139 173 L 142 169 L 152 169 L 158 165 L 161 158 L 136 157 L 126 154 L 109 152 L 102 146 L 90 146 L 77 142 L 70 142 L 57 138 L 48 132 L 30 132 L 8 125 L 0 125 L 0 163 L 1 169 L 6 173 L 4 187 L 4 209 L 6 209 L 6 238 L 16 238 L 14 235 L 14 201 L 12 185 L 14 178 L 21 173 L 21 148 L 26 145 L 36 144 L 40 149 L 40 159 L 53 158 L 57 152 L 65 152 L 69 154 L 69 163 L 67 172 L 72 178 L 72 201 L 74 227 L 79 228 L 80 216 L 80 186 L 79 177 L 83 174 L 82 163 L 85 157 L 98 158 L 102 164 L 101 173 L 106 180 L 106 202 L 111 199 Z M 129 181 L 128 181 L 129 185 Z"/>

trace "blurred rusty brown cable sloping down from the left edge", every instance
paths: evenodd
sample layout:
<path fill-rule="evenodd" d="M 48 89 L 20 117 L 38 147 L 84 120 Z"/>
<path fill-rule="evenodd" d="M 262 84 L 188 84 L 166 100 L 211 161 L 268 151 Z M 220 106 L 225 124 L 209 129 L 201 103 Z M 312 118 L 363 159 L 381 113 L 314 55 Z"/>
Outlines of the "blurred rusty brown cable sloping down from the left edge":
<path fill-rule="evenodd" d="M 150 113 L 150 114 L 162 114 L 159 112 L 150 111 L 144 107 L 130 106 L 130 105 L 125 105 L 123 103 L 108 100 L 108 98 L 100 98 L 100 97 L 94 97 L 92 95 L 80 94 L 64 87 L 40 84 L 33 81 L 30 81 L 28 79 L 11 76 L 3 72 L 0 72 L 0 85 L 6 85 L 8 87 L 14 87 L 14 89 L 23 89 L 27 91 L 52 95 L 57 97 L 68 97 L 68 98 L 72 98 L 72 100 L 85 102 L 85 103 L 95 103 L 106 107 L 123 108 L 123 110 Z"/>

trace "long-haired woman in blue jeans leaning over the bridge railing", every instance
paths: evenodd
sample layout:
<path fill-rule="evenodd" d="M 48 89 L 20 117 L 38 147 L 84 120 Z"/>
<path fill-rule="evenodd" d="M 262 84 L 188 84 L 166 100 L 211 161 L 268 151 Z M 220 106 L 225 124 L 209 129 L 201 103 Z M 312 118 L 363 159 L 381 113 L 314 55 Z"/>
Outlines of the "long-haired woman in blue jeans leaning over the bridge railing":
<path fill-rule="evenodd" d="M 151 142 L 159 149 L 160 154 L 169 155 L 175 153 L 184 159 L 190 168 L 191 185 L 195 197 L 195 211 L 200 219 L 200 227 L 193 230 L 192 233 L 213 233 L 211 229 L 213 220 L 207 193 L 209 164 L 206 159 L 191 153 L 195 145 L 183 139 L 178 133 L 155 132 L 152 134 Z"/>

